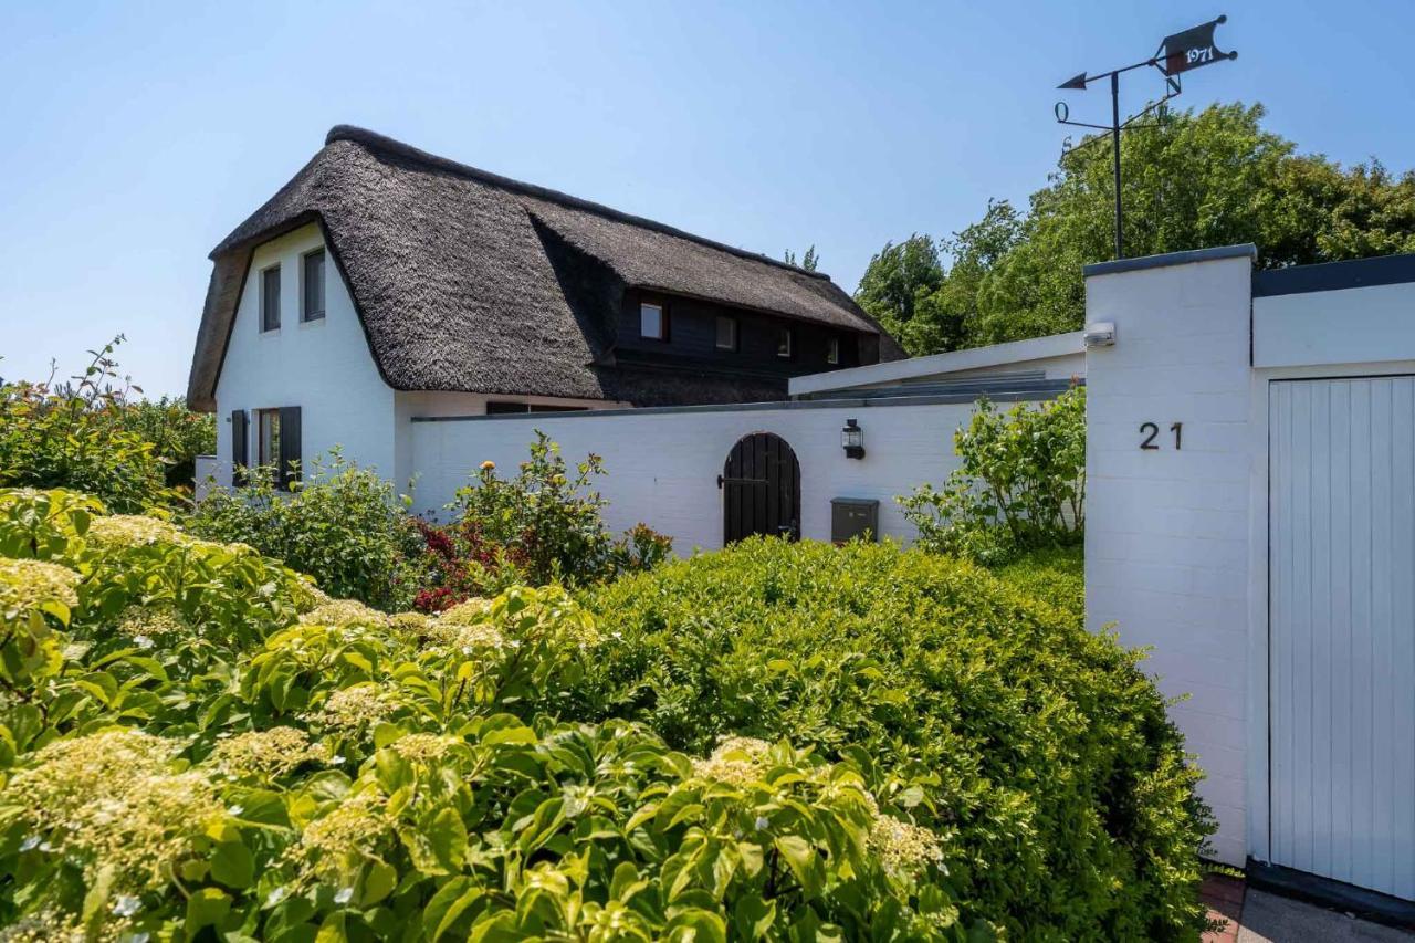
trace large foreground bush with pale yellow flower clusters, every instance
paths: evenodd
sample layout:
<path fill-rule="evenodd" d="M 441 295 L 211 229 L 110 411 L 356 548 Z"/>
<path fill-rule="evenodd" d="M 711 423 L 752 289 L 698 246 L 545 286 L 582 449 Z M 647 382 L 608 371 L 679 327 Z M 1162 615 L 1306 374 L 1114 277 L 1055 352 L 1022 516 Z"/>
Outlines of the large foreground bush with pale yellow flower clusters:
<path fill-rule="evenodd" d="M 607 644 L 563 589 L 388 616 L 62 491 L 0 548 L 17 939 L 965 939 L 867 762 L 552 718 Z"/>

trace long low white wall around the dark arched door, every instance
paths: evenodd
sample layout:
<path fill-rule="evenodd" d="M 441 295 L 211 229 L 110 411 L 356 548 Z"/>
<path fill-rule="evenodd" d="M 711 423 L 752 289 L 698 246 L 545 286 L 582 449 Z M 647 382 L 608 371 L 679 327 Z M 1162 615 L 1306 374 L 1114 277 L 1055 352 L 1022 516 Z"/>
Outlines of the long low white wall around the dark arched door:
<path fill-rule="evenodd" d="M 877 498 L 880 532 L 913 539 L 916 531 L 894 503 L 924 481 L 940 483 L 958 466 L 954 430 L 972 404 L 809 408 L 637 411 L 603 415 L 497 416 L 413 422 L 412 463 L 419 470 L 416 505 L 436 511 L 484 460 L 514 474 L 539 429 L 567 462 L 594 452 L 608 474 L 596 481 L 610 501 L 607 522 L 624 531 L 642 521 L 674 538 L 676 552 L 722 547 L 717 476 L 732 446 L 753 432 L 773 432 L 801 462 L 801 534 L 831 538 L 831 498 Z M 856 419 L 866 456 L 848 459 L 841 428 Z"/>

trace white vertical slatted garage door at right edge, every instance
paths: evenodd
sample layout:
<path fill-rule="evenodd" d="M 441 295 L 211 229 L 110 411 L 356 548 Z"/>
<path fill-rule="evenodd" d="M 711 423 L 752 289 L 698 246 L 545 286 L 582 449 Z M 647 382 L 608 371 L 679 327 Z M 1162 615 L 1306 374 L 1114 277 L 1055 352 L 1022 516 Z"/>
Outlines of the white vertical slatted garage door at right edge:
<path fill-rule="evenodd" d="M 1269 387 L 1275 864 L 1415 899 L 1415 378 Z"/>

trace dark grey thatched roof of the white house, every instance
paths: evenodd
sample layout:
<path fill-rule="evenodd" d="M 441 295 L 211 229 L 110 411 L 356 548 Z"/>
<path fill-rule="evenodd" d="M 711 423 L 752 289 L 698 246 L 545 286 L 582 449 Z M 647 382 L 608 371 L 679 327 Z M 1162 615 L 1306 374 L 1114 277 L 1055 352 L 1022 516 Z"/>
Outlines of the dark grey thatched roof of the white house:
<path fill-rule="evenodd" d="M 252 251 L 308 222 L 323 227 L 395 389 L 654 399 L 652 382 L 614 365 L 625 287 L 879 334 L 883 358 L 901 355 L 824 275 L 340 125 L 212 251 L 187 391 L 194 408 L 215 408 Z M 720 377 L 674 374 L 671 384 L 681 379 L 730 392 Z"/>

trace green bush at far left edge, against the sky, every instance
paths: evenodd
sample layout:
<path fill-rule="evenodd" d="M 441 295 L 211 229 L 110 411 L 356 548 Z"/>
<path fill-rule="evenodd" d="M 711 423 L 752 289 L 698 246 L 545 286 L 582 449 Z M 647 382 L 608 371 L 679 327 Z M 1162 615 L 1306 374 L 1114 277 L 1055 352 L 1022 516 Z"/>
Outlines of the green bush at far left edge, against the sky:
<path fill-rule="evenodd" d="M 68 384 L 0 387 L 0 487 L 68 487 L 123 513 L 168 501 L 156 446 L 123 423 L 126 391 L 112 382 L 122 340 L 89 351 Z"/>

